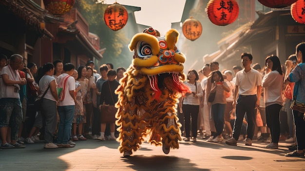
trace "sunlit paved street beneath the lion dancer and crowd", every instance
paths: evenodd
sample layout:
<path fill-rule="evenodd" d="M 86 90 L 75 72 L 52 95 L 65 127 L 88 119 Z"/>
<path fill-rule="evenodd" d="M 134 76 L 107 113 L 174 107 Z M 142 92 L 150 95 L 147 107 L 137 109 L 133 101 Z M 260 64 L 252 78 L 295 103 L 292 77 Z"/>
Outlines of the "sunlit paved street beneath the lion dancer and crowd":
<path fill-rule="evenodd" d="M 166 155 L 162 147 L 143 143 L 140 150 L 124 158 L 116 141 L 76 141 L 75 148 L 44 149 L 43 141 L 24 149 L 1 149 L 0 171 L 300 171 L 305 158 L 285 157 L 289 143 L 278 150 L 262 148 L 267 143 L 245 146 L 180 142 Z"/>

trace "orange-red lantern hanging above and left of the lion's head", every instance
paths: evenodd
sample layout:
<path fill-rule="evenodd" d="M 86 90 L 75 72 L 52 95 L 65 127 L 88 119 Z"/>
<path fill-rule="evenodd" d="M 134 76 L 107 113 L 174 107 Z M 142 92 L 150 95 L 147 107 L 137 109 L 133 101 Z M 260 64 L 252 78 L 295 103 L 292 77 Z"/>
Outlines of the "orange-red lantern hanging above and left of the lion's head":
<path fill-rule="evenodd" d="M 122 29 L 128 20 L 128 13 L 123 5 L 116 1 L 109 5 L 104 13 L 105 24 L 113 31 Z"/>

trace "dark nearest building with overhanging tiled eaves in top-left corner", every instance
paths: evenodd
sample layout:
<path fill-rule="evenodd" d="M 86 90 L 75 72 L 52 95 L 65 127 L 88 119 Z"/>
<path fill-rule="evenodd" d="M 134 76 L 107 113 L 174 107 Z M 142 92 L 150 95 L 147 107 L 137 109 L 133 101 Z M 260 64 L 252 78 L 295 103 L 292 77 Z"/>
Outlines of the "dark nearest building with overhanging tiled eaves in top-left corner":
<path fill-rule="evenodd" d="M 47 12 L 30 0 L 0 0 L 0 53 L 34 58 L 38 39 L 53 39 L 45 28 Z"/>

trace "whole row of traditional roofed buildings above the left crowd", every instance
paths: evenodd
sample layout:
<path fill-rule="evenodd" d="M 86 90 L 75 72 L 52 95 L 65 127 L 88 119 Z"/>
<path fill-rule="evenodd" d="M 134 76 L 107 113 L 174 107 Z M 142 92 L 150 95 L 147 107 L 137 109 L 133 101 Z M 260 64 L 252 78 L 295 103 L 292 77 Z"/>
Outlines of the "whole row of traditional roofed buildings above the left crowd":
<path fill-rule="evenodd" d="M 0 0 L 0 15 L 0 53 L 8 57 L 19 53 L 38 67 L 57 59 L 76 67 L 102 59 L 99 37 L 76 9 L 55 17 L 42 0 Z"/>

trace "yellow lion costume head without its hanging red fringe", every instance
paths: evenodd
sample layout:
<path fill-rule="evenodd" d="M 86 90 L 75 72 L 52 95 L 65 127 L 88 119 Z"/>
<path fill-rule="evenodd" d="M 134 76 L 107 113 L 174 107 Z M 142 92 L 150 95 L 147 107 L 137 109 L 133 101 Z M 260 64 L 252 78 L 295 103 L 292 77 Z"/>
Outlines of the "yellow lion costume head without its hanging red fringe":
<path fill-rule="evenodd" d="M 129 44 L 129 49 L 134 50 L 134 68 L 144 75 L 173 72 L 182 74 L 186 58 L 175 45 L 178 37 L 179 33 L 175 29 L 171 29 L 164 37 L 146 33 L 135 34 Z"/>

